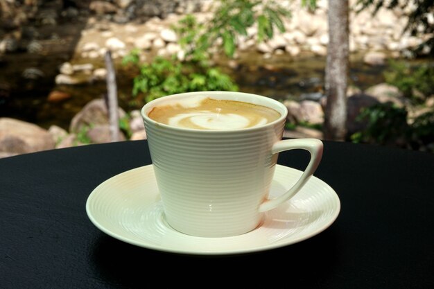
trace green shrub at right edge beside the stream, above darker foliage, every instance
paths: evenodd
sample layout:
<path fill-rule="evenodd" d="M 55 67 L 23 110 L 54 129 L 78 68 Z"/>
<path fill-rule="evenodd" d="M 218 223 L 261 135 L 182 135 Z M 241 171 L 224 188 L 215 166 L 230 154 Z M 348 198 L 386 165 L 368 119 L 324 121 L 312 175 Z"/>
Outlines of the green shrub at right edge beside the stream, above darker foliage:
<path fill-rule="evenodd" d="M 431 64 L 422 64 L 415 68 L 406 62 L 391 61 L 390 69 L 385 71 L 384 76 L 386 82 L 398 87 L 404 96 L 415 102 L 434 94 L 434 66 Z M 415 94 L 415 91 L 419 91 L 419 95 Z"/>

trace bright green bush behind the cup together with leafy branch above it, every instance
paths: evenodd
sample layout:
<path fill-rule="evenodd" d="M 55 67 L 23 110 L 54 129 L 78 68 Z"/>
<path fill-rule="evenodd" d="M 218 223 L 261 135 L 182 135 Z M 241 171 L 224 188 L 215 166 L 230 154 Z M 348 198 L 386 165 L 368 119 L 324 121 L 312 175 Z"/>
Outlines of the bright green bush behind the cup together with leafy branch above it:
<path fill-rule="evenodd" d="M 123 64 L 139 69 L 134 78 L 132 94 L 144 94 L 146 102 L 188 91 L 238 90 L 231 78 L 212 66 L 214 47 L 232 57 L 236 50 L 236 37 L 248 35 L 247 28 L 258 26 L 259 41 L 273 36 L 275 28 L 284 31 L 281 17 L 289 12 L 275 1 L 222 0 L 214 19 L 201 24 L 193 15 L 181 19 L 173 29 L 179 35 L 182 57 L 157 57 L 147 64 L 139 63 L 140 51 L 133 50 Z"/>

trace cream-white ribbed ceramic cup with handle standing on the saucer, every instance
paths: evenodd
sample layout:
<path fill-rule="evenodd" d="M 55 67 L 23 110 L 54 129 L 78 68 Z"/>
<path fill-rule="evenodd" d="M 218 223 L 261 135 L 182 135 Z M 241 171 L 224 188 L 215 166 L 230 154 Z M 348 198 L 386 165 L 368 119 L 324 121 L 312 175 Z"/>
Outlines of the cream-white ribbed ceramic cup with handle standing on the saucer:
<path fill-rule="evenodd" d="M 148 117 L 153 107 L 198 96 L 263 105 L 281 116 L 266 125 L 237 130 L 177 128 Z M 300 191 L 320 163 L 322 142 L 281 141 L 287 114 L 276 100 L 241 92 L 191 92 L 147 103 L 141 115 L 168 224 L 193 236 L 236 236 L 261 225 L 264 211 Z M 278 152 L 297 148 L 311 153 L 306 170 L 290 191 L 268 200 Z"/>

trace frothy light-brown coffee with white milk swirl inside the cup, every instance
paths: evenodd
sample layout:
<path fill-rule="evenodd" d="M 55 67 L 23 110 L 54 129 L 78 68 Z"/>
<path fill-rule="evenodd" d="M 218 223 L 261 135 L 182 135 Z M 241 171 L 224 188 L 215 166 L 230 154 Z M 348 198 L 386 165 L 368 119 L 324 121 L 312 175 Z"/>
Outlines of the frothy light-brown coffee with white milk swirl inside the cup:
<path fill-rule="evenodd" d="M 204 98 L 196 103 L 153 107 L 148 116 L 158 123 L 178 128 L 236 130 L 265 125 L 279 119 L 281 114 L 262 105 Z"/>

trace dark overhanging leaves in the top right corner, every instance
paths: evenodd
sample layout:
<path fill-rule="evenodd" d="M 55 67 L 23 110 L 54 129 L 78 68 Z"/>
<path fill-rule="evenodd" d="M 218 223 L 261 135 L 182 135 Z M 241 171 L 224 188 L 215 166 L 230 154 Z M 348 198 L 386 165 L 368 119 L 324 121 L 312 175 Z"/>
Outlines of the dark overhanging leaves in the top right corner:
<path fill-rule="evenodd" d="M 361 4 L 361 10 L 374 6 L 374 14 L 381 7 L 388 9 L 410 8 L 405 30 L 410 31 L 412 35 L 422 33 L 428 35 L 426 40 L 415 51 L 420 52 L 426 47 L 429 49 L 429 54 L 434 55 L 434 23 L 430 19 L 434 14 L 434 0 L 358 0 L 358 4 Z"/>

